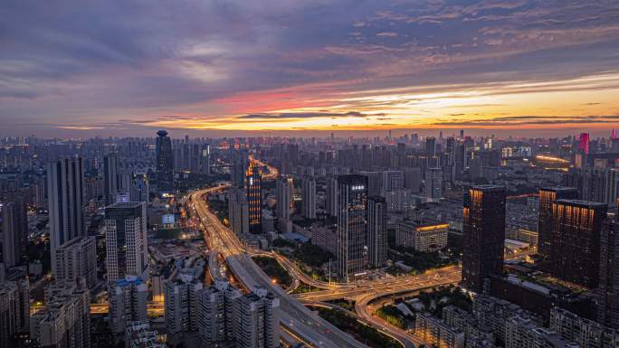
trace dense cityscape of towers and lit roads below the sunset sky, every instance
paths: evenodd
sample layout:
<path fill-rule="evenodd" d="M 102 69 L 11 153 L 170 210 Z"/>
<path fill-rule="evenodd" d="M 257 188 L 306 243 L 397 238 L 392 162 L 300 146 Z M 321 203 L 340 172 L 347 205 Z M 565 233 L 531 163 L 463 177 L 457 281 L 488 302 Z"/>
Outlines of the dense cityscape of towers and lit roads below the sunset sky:
<path fill-rule="evenodd" d="M 5 137 L 0 345 L 619 346 L 616 132 L 453 133 Z"/>

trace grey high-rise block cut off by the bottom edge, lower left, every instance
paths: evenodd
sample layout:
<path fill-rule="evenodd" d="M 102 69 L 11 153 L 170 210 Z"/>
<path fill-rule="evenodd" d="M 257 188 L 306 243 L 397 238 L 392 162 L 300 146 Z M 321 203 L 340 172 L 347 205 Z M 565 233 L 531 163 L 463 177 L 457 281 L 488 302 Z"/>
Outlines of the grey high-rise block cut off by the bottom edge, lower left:
<path fill-rule="evenodd" d="M 90 348 L 90 294 L 67 287 L 46 301 L 30 317 L 30 337 L 35 347 Z"/>

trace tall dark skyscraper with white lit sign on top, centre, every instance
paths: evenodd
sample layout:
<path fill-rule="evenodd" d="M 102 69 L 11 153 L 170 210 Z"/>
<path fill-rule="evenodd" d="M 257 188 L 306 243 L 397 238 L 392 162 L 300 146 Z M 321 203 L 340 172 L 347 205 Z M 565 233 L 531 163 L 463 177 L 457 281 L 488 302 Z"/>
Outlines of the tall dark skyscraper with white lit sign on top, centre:
<path fill-rule="evenodd" d="M 344 281 L 367 268 L 367 176 L 338 176 L 338 275 Z"/>

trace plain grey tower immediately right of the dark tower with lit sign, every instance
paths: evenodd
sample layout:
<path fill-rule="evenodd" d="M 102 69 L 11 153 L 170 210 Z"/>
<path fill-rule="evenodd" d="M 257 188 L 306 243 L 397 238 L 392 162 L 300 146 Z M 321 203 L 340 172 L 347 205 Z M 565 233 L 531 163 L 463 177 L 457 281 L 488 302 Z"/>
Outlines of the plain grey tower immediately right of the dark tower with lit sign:
<path fill-rule="evenodd" d="M 367 247 L 369 263 L 385 266 L 387 259 L 386 200 L 372 196 L 367 200 Z"/>

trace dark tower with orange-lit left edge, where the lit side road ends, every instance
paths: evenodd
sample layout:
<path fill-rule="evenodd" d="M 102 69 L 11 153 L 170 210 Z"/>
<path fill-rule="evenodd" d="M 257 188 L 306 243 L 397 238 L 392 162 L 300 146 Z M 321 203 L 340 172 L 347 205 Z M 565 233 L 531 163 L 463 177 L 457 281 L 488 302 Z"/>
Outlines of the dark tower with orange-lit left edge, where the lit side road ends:
<path fill-rule="evenodd" d="M 486 279 L 503 270 L 505 187 L 473 186 L 463 205 L 462 287 L 481 293 Z"/>

